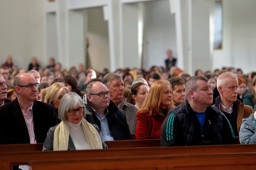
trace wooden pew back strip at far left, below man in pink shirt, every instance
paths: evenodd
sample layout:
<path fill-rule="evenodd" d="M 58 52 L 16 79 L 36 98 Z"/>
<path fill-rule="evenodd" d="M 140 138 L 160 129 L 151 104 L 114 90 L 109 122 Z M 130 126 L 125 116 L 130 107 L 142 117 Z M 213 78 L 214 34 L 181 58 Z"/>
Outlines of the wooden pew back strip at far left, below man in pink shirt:
<path fill-rule="evenodd" d="M 0 145 L 0 153 L 1 152 L 24 152 L 24 151 L 42 150 L 43 145 L 44 145 L 43 143 Z"/>

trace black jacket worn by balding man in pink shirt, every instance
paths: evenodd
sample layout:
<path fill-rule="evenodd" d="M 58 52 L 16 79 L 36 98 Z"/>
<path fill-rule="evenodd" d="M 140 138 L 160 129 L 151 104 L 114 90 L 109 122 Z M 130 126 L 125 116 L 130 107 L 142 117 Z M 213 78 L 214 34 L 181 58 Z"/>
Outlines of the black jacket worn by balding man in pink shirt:
<path fill-rule="evenodd" d="M 34 133 L 37 143 L 44 143 L 50 127 L 57 124 L 54 106 L 34 101 Z M 18 98 L 0 107 L 0 144 L 30 143 L 28 129 Z"/>

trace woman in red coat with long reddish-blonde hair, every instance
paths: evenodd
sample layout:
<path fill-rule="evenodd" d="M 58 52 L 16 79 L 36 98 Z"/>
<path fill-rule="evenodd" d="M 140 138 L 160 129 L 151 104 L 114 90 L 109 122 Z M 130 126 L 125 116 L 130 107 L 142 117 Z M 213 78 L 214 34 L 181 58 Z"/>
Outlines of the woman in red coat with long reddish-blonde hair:
<path fill-rule="evenodd" d="M 136 139 L 160 139 L 161 126 L 168 111 L 174 108 L 168 80 L 152 84 L 142 108 L 137 112 Z"/>

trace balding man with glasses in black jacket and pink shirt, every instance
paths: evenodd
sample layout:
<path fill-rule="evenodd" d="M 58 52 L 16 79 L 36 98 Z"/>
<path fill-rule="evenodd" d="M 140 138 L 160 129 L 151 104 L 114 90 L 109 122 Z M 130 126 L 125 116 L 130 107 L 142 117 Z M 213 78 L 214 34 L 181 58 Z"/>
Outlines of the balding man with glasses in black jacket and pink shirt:
<path fill-rule="evenodd" d="M 54 107 L 37 101 L 34 76 L 17 74 L 13 86 L 17 98 L 0 107 L 0 144 L 44 143 L 50 127 L 57 124 Z"/>

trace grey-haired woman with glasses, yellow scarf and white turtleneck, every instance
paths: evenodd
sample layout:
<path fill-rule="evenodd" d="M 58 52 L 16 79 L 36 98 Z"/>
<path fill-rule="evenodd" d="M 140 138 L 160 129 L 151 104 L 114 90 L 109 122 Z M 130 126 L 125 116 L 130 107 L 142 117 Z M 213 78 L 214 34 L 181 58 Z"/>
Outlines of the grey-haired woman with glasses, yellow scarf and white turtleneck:
<path fill-rule="evenodd" d="M 97 125 L 88 123 L 82 98 L 69 92 L 60 101 L 60 124 L 51 127 L 44 141 L 43 150 L 84 150 L 107 148 L 98 133 Z"/>

